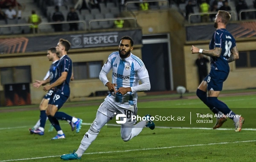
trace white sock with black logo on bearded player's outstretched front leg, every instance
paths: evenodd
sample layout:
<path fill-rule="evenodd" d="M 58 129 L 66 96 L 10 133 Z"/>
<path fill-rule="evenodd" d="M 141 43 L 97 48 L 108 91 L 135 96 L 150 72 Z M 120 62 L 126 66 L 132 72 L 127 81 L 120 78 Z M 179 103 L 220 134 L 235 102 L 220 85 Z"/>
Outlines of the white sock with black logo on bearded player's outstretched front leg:
<path fill-rule="evenodd" d="M 98 135 L 90 133 L 90 130 L 85 133 L 84 138 L 81 141 L 79 149 L 76 151 L 78 157 L 81 157 L 85 150 L 90 146 L 90 144 L 96 139 Z"/>

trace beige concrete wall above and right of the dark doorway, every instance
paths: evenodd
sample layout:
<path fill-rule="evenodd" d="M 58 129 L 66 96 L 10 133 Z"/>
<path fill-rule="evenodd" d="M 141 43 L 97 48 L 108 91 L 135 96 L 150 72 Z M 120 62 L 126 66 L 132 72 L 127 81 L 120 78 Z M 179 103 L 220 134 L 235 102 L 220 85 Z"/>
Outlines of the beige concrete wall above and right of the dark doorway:
<path fill-rule="evenodd" d="M 170 34 L 174 88 L 186 86 L 183 46 L 186 31 L 184 17 L 174 9 L 134 12 L 143 35 Z"/>

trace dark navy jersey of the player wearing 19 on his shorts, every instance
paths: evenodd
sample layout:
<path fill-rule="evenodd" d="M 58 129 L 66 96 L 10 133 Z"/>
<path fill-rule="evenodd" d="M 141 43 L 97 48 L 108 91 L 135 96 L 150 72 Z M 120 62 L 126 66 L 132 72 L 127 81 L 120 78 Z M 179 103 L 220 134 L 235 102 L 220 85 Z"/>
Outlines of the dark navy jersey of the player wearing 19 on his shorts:
<path fill-rule="evenodd" d="M 70 96 L 70 79 L 72 75 L 72 60 L 67 56 L 64 55 L 63 58 L 60 59 L 58 67 L 57 67 L 57 75 L 58 78 L 61 77 L 62 72 L 67 72 L 67 78 L 66 80 L 56 87 L 56 90 L 58 93 L 61 93 L 65 96 Z"/>

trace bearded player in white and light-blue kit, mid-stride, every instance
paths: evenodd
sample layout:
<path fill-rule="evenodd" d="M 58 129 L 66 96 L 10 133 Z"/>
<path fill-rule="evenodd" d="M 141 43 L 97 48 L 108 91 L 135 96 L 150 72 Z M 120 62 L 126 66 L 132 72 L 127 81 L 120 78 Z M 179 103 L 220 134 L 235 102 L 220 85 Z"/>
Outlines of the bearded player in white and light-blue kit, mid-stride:
<path fill-rule="evenodd" d="M 99 79 L 111 93 L 99 106 L 96 119 L 85 133 L 76 153 L 74 151 L 62 155 L 61 159 L 81 159 L 82 154 L 96 139 L 101 128 L 117 114 L 125 114 L 127 118 L 125 124 L 121 125 L 121 138 L 125 142 L 140 134 L 145 126 L 151 130 L 154 129 L 155 125 L 151 120 L 140 121 L 136 124 L 137 121 L 131 119 L 131 115 L 137 116 L 137 92 L 150 90 L 148 71 L 143 61 L 131 53 L 133 43 L 132 38 L 124 36 L 120 40 L 119 51 L 109 55 L 99 74 Z M 111 69 L 113 70 L 112 83 L 107 78 Z M 139 81 L 142 84 L 139 85 Z M 150 115 L 146 117 L 149 119 Z"/>

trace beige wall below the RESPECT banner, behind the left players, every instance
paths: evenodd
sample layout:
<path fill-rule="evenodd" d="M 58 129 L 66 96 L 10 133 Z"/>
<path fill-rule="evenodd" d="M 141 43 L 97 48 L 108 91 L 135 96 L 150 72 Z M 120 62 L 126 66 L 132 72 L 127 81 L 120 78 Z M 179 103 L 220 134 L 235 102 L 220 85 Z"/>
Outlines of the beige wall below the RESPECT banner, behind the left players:
<path fill-rule="evenodd" d="M 102 51 L 95 51 L 94 49 L 87 49 L 87 52 L 76 52 L 69 53 L 69 57 L 72 61 L 75 62 L 88 62 L 88 61 L 103 61 L 103 64 L 107 61 L 108 56 L 117 51 L 118 47 L 108 47 L 102 48 Z M 140 47 L 135 47 L 133 52 L 134 55 L 137 55 L 141 58 L 141 49 Z M 13 57 L 1 57 L 0 58 L 0 68 L 1 67 L 16 67 L 16 66 L 31 66 L 31 77 L 32 81 L 42 80 L 46 75 L 51 62 L 48 61 L 46 54 L 26 56 L 19 54 L 14 55 Z M 108 74 L 108 79 L 111 81 L 111 72 Z M 43 87 L 35 89 L 30 84 L 31 90 L 31 99 L 32 104 L 39 104 L 42 100 L 42 97 L 46 94 L 43 90 Z M 85 80 L 76 80 L 71 81 L 70 83 L 70 101 L 79 101 L 84 100 L 84 97 L 90 95 L 90 93 L 94 93 L 99 90 L 108 90 L 102 82 L 96 79 L 85 79 Z M 2 85 L 0 86 L 0 90 L 3 90 Z"/>

